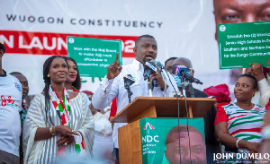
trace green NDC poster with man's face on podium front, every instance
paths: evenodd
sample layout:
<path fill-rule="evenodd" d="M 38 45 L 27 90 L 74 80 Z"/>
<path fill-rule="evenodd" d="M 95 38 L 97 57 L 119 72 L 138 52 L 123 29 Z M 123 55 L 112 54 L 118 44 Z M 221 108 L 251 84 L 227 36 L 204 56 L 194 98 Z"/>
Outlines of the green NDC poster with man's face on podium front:
<path fill-rule="evenodd" d="M 204 136 L 204 122 L 203 118 L 180 118 L 180 125 L 185 126 L 189 125 L 189 138 L 191 142 L 191 147 L 200 147 L 200 152 L 196 156 L 201 156 L 203 160 L 206 161 L 206 148 L 205 148 L 205 136 Z M 169 164 L 171 163 L 180 163 L 178 162 L 179 155 L 179 147 L 176 142 L 166 143 L 166 138 L 169 136 L 174 136 L 177 138 L 178 133 L 176 134 L 168 134 L 168 132 L 178 129 L 178 119 L 177 118 L 143 118 L 139 120 L 139 128 L 140 128 L 140 137 L 141 137 L 141 155 L 142 155 L 142 163 L 143 164 Z M 194 138 L 194 131 L 192 129 L 196 128 L 195 135 L 198 137 Z M 176 130 L 176 132 L 178 132 Z M 188 136 L 187 133 L 183 134 L 181 130 L 181 147 L 183 149 L 182 153 L 182 162 L 184 163 L 184 154 L 186 155 L 187 147 L 188 147 Z M 176 136 L 175 136 L 176 135 Z M 186 135 L 186 137 L 184 136 Z M 173 138 L 174 138 L 173 137 Z M 179 138 L 179 137 L 178 137 Z M 176 139 L 178 141 L 178 138 Z M 197 142 L 201 141 L 201 142 Z M 174 144 L 175 143 L 175 144 Z M 200 145 L 199 145 L 200 144 Z M 203 147 L 203 148 L 202 148 Z M 202 148 L 202 149 L 201 149 Z M 167 151 L 167 152 L 166 152 Z M 166 154 L 167 155 L 166 155 Z M 180 161 L 180 160 L 179 160 Z M 206 163 L 203 162 L 202 163 Z"/>

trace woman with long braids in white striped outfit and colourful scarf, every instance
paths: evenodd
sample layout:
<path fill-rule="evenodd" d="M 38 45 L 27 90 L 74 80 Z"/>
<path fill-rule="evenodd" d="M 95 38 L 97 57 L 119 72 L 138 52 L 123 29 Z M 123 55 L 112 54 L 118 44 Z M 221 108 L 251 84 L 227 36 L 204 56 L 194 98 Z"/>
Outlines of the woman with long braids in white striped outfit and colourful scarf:
<path fill-rule="evenodd" d="M 23 125 L 24 163 L 56 163 L 58 158 L 91 158 L 94 119 L 80 92 L 64 88 L 68 65 L 50 56 L 43 65 L 45 87 L 35 96 Z"/>

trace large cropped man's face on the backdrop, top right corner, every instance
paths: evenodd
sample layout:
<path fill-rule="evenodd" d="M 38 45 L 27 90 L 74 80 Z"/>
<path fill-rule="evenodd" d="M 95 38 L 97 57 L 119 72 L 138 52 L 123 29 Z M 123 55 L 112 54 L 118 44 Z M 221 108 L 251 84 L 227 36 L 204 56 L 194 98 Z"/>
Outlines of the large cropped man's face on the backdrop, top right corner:
<path fill-rule="evenodd" d="M 218 40 L 218 24 L 270 21 L 269 0 L 213 0 L 213 4 L 216 40 Z"/>

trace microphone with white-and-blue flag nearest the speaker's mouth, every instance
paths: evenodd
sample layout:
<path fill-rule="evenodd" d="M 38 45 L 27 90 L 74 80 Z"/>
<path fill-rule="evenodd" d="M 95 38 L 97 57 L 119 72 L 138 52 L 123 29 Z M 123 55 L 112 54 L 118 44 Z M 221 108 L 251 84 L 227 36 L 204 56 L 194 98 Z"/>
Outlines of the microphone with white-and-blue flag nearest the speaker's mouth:
<path fill-rule="evenodd" d="M 151 74 L 157 73 L 157 64 L 156 61 L 154 59 L 150 60 L 149 62 L 146 62 L 144 65 L 144 73 L 143 73 L 143 77 L 144 80 L 147 80 Z M 158 82 L 157 79 L 153 80 L 154 86 L 157 87 L 158 86 Z"/>

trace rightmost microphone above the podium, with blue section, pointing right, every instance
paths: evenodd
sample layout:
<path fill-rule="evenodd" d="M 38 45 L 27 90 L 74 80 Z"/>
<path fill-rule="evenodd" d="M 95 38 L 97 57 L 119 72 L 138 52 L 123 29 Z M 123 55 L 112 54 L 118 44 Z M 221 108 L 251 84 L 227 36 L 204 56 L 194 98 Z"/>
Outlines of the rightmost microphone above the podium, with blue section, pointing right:
<path fill-rule="evenodd" d="M 184 77 L 187 79 L 189 82 L 195 82 L 197 84 L 202 84 L 199 79 L 196 79 L 193 77 L 193 74 L 188 73 L 188 68 L 184 65 L 173 65 L 172 66 L 172 72 L 178 77 Z"/>

